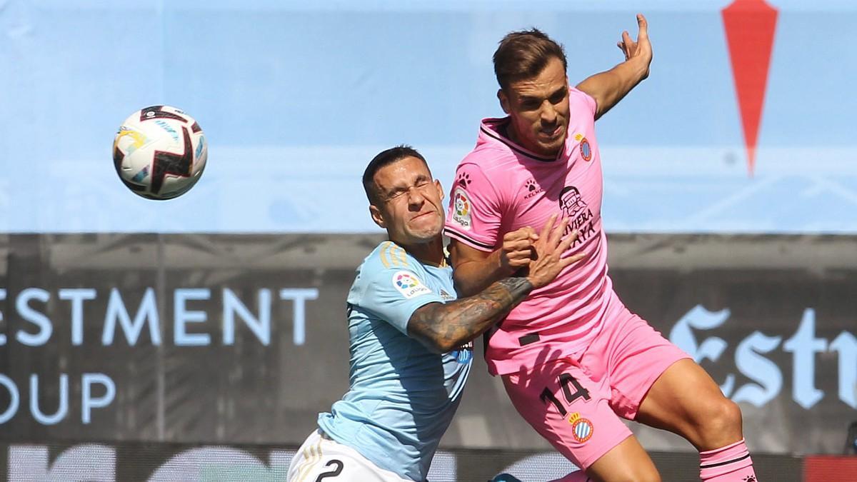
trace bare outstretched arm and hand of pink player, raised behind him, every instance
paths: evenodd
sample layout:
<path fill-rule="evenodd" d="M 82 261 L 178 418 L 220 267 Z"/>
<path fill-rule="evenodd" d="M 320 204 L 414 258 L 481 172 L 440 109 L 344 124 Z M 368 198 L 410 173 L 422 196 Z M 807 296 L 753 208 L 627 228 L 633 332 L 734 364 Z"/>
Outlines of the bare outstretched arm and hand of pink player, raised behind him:
<path fill-rule="evenodd" d="M 637 14 L 639 32 L 633 41 L 627 31 L 616 45 L 625 54 L 625 62 L 613 69 L 587 77 L 578 84 L 578 89 L 596 100 L 595 118 L 601 117 L 649 76 L 652 51 L 649 41 L 649 24 L 642 14 Z"/>

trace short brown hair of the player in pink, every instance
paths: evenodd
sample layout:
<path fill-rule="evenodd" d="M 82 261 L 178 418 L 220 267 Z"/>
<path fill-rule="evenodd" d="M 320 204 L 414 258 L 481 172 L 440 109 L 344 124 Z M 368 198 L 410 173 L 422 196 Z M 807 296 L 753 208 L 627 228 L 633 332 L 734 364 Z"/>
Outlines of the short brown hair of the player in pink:
<path fill-rule="evenodd" d="M 494 51 L 494 75 L 500 88 L 506 89 L 514 81 L 539 75 L 548 66 L 551 57 L 562 61 L 568 69 L 566 51 L 538 28 L 507 33 Z"/>

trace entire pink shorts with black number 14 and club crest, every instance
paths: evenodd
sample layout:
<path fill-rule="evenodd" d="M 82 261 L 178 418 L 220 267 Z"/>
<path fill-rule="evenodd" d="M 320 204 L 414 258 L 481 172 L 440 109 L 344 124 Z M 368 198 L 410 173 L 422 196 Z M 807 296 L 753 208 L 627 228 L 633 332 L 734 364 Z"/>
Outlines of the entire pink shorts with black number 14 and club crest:
<path fill-rule="evenodd" d="M 548 350 L 548 346 L 545 346 Z M 670 365 L 691 358 L 625 307 L 584 352 L 503 376 L 518 413 L 578 467 L 631 435 L 623 419 Z"/>

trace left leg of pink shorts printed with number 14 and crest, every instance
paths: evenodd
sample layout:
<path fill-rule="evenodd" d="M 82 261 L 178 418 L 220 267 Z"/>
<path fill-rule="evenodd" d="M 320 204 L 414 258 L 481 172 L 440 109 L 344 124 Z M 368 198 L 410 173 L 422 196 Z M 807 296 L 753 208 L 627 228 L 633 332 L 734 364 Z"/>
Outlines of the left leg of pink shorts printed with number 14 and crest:
<path fill-rule="evenodd" d="M 571 359 L 504 375 L 503 384 L 518 413 L 578 467 L 631 436 L 609 406 L 607 383 L 590 379 Z"/>

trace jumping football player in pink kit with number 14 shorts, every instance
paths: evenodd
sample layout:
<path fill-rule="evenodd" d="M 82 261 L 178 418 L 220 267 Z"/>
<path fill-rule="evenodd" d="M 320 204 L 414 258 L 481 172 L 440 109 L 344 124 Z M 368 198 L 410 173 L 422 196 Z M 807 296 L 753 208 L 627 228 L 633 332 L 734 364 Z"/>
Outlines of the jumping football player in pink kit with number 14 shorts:
<path fill-rule="evenodd" d="M 486 350 L 518 413 L 585 471 L 562 480 L 660 480 L 624 418 L 685 437 L 703 480 L 754 482 L 740 408 L 626 309 L 607 274 L 595 120 L 649 74 L 643 15 L 638 26 L 636 42 L 622 34 L 625 62 L 577 87 L 562 47 L 543 33 L 500 42 L 494 71 L 508 117 L 483 120 L 458 166 L 446 218 L 454 278 L 467 296 L 526 268 L 537 256 L 534 230 L 552 214 L 566 218 L 567 232 L 578 232 L 569 255 L 586 257 L 512 310 Z"/>

